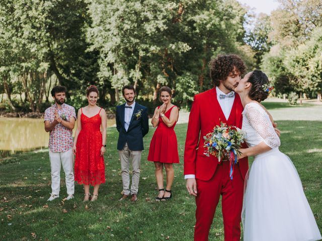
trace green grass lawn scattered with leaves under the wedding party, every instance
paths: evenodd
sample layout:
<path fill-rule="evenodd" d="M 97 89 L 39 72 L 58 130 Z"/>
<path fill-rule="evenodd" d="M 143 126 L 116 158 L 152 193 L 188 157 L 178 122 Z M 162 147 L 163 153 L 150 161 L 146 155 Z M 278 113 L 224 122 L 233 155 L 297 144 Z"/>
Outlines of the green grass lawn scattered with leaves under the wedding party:
<path fill-rule="evenodd" d="M 322 122 L 280 121 L 278 125 L 282 130 L 280 149 L 295 164 L 322 230 Z M 0 240 L 192 240 L 195 202 L 183 179 L 187 124 L 178 125 L 175 130 L 181 164 L 175 165 L 174 196 L 167 202 L 154 201 L 154 165 L 146 161 L 153 129 L 144 138 L 136 203 L 118 201 L 122 181 L 115 128 L 108 129 L 107 182 L 101 185 L 98 201 L 93 203 L 83 202 L 81 185 L 75 185 L 74 199 L 63 202 L 63 180 L 60 198 L 46 201 L 51 191 L 47 151 L 18 154 L 0 161 Z M 220 204 L 209 239 L 223 240 Z"/>

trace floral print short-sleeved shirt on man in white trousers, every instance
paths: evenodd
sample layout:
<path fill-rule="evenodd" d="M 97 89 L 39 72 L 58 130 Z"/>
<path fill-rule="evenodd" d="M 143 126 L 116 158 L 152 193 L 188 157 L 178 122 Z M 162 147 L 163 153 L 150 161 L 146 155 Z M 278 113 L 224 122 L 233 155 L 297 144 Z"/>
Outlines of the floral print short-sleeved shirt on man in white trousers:
<path fill-rule="evenodd" d="M 65 121 L 69 122 L 71 117 L 76 119 L 75 108 L 63 103 L 61 109 L 54 104 L 45 110 L 44 120 L 52 123 L 55 119 L 54 111 L 57 111 L 59 116 Z M 65 128 L 61 124 L 57 124 L 49 133 L 48 148 L 52 152 L 66 152 L 73 146 L 72 130 Z"/>

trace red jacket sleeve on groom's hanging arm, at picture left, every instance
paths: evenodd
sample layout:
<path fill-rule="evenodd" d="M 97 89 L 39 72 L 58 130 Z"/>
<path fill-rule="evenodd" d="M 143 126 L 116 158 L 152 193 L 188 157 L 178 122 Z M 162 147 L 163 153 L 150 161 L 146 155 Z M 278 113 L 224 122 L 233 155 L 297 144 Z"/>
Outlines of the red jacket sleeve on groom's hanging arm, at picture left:
<path fill-rule="evenodd" d="M 184 175 L 196 174 L 197 148 L 200 137 L 200 103 L 198 95 L 192 103 L 184 154 Z"/>

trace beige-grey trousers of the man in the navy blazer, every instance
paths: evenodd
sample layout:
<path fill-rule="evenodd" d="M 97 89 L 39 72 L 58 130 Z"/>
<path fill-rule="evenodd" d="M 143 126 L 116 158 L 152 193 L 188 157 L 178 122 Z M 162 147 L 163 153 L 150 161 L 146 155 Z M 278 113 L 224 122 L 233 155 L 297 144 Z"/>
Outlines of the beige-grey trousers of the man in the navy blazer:
<path fill-rule="evenodd" d="M 123 194 L 137 194 L 139 188 L 140 180 L 140 165 L 141 165 L 141 153 L 142 151 L 131 151 L 127 143 L 124 148 L 119 151 L 119 156 L 121 160 L 121 173 L 122 173 L 122 182 L 123 182 Z M 130 159 L 132 160 L 132 185 L 130 187 L 130 174 L 129 166 Z"/>

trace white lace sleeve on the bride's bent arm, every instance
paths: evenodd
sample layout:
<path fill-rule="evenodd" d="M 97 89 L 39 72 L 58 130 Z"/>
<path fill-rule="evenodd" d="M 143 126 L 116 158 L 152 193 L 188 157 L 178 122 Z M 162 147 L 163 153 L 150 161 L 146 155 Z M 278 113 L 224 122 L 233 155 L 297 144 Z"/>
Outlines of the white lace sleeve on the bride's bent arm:
<path fill-rule="evenodd" d="M 258 104 L 248 104 L 245 106 L 244 113 L 250 125 L 264 139 L 266 145 L 270 148 L 277 148 L 281 141 L 277 136 L 272 123 L 266 117 L 266 112 Z"/>

